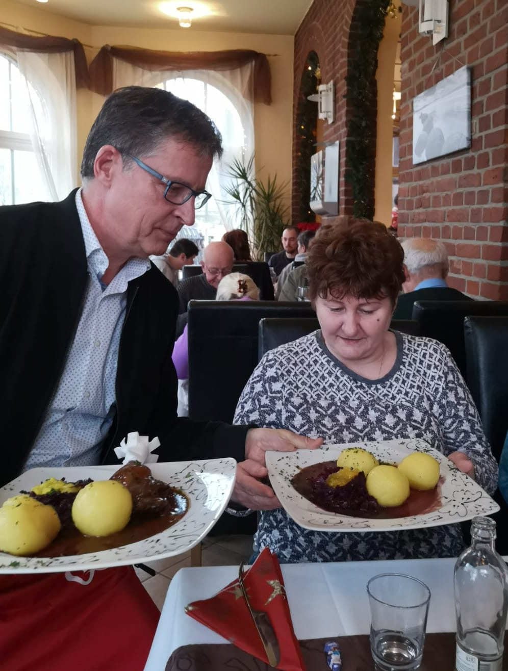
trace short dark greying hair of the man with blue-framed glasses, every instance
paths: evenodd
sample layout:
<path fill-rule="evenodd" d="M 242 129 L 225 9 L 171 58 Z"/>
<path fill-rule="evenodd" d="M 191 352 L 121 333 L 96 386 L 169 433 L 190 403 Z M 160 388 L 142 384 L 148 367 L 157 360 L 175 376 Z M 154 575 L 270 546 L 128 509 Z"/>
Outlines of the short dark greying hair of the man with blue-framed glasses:
<path fill-rule="evenodd" d="M 93 122 L 83 150 L 81 177 L 93 179 L 95 156 L 106 144 L 118 150 L 128 165 L 132 156 L 150 156 L 168 138 L 190 144 L 203 158 L 222 155 L 222 137 L 215 123 L 188 100 L 164 89 L 117 89 Z"/>

